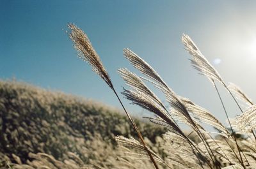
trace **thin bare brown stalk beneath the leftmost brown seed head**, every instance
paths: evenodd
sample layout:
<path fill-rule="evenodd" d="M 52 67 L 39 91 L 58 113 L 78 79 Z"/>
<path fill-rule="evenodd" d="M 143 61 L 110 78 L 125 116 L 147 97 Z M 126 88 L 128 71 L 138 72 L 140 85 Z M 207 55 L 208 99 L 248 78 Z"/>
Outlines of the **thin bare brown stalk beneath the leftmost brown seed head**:
<path fill-rule="evenodd" d="M 141 133 L 140 133 L 140 130 L 138 129 L 136 123 L 133 121 L 132 117 L 131 117 L 131 116 L 128 114 L 128 112 L 126 111 L 126 109 L 125 109 L 125 107 L 124 107 L 124 105 L 123 105 L 121 99 L 119 98 L 118 94 L 116 93 L 114 87 L 113 87 L 113 91 L 114 91 L 114 93 L 115 93 L 115 95 L 116 95 L 116 98 L 118 98 L 118 101 L 119 101 L 120 104 L 122 105 L 122 108 L 124 109 L 125 114 L 127 115 L 127 117 L 129 118 L 129 120 L 131 121 L 133 128 L 136 130 L 136 132 L 137 132 L 137 134 L 138 134 L 138 137 L 140 138 L 141 143 L 142 143 L 142 145 L 143 145 L 145 151 L 147 151 L 148 156 L 149 156 L 150 160 L 152 161 L 154 167 L 155 167 L 156 169 L 159 169 L 158 166 L 157 166 L 157 164 L 156 164 L 155 159 L 153 158 L 151 152 L 150 152 L 150 151 L 148 150 L 148 148 L 147 148 L 147 145 L 146 145 L 146 143 L 145 143 L 145 141 L 144 141 L 144 139 L 143 139 L 143 137 L 142 137 L 142 135 L 141 135 Z"/>

